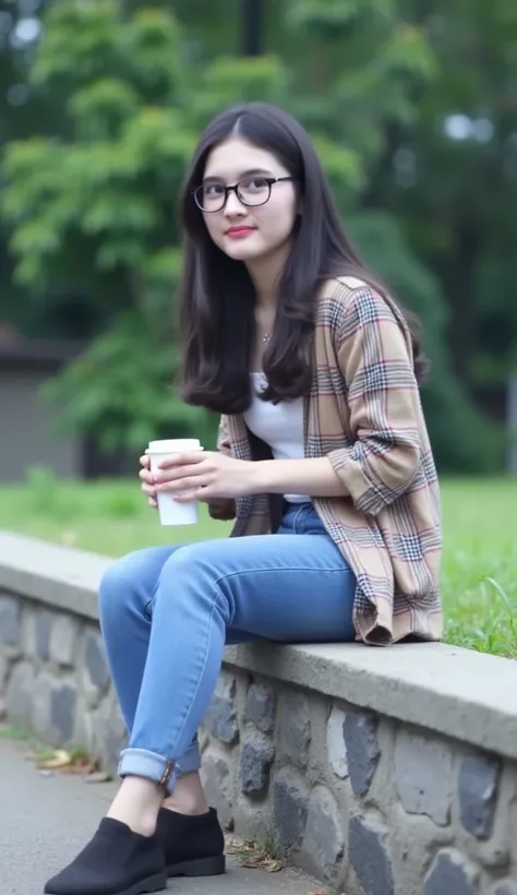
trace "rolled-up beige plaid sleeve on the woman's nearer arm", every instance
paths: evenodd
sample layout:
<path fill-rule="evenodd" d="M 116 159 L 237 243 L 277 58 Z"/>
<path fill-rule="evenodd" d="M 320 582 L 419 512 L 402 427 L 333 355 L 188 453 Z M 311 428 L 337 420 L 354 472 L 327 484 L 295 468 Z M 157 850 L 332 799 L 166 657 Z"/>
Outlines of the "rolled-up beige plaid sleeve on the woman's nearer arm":
<path fill-rule="evenodd" d="M 364 286 L 342 308 L 337 354 L 354 440 L 328 457 L 356 508 L 374 516 L 406 491 L 420 463 L 411 343 L 388 301 Z"/>

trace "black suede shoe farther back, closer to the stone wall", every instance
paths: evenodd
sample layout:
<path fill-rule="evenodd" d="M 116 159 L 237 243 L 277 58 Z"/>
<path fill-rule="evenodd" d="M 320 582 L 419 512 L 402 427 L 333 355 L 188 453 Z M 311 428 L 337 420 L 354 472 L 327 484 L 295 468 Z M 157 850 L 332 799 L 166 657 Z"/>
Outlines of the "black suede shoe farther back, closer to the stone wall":
<path fill-rule="evenodd" d="M 157 832 L 164 844 L 168 876 L 216 876 L 225 872 L 225 837 L 214 808 L 196 815 L 163 808 Z"/>

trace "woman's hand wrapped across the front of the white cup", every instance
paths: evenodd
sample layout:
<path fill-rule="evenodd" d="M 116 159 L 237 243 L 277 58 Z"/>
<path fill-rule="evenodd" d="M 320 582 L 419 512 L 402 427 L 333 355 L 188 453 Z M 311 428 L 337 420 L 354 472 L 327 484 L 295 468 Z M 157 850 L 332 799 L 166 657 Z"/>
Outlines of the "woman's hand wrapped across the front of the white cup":
<path fill-rule="evenodd" d="M 253 493 L 255 464 L 217 451 L 178 454 L 160 461 L 158 467 L 148 482 L 154 488 L 154 498 L 157 492 L 167 491 L 180 503 L 190 503 Z M 145 478 L 145 484 L 147 481 Z M 144 486 L 142 490 L 152 494 Z"/>

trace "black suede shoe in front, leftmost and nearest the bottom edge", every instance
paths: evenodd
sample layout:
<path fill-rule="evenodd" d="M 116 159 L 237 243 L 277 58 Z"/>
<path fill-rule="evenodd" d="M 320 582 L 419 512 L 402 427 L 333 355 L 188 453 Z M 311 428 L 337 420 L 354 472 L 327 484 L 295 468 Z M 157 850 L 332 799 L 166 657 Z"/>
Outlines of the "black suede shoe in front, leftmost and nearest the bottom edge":
<path fill-rule="evenodd" d="M 160 836 L 141 836 L 104 818 L 71 864 L 45 886 L 47 895 L 141 895 L 167 886 Z"/>

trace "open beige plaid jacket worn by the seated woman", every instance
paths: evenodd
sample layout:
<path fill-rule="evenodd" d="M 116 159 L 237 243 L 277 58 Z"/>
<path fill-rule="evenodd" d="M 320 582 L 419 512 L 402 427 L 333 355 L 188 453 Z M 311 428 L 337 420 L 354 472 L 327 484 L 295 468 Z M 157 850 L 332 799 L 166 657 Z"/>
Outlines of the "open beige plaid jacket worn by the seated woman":
<path fill-rule="evenodd" d="M 349 494 L 313 502 L 357 576 L 357 637 L 380 645 L 438 640 L 440 492 L 397 305 L 353 277 L 327 282 L 317 303 L 313 370 L 304 452 L 328 456 Z M 242 416 L 221 418 L 218 450 L 257 460 L 254 443 Z M 272 506 L 267 494 L 238 500 L 231 536 L 275 530 Z"/>

